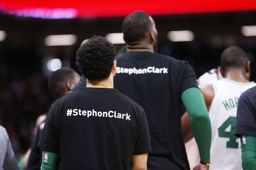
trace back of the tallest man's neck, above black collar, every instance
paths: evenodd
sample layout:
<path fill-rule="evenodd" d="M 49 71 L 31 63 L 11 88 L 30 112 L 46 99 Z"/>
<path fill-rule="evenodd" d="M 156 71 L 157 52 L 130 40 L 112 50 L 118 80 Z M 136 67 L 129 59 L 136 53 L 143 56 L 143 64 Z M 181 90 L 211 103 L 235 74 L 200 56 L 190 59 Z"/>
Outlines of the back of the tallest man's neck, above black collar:
<path fill-rule="evenodd" d="M 154 53 L 154 46 L 147 42 L 138 42 L 136 45 L 127 44 L 127 52 L 151 52 Z"/>

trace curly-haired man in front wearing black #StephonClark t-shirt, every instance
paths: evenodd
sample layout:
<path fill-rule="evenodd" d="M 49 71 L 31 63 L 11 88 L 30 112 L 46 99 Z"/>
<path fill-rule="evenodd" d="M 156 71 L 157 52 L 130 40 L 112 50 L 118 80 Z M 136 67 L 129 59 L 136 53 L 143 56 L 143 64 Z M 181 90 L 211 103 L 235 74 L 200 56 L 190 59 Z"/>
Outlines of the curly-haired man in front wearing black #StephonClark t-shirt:
<path fill-rule="evenodd" d="M 42 170 L 146 170 L 151 151 L 146 114 L 113 89 L 115 55 L 103 37 L 79 48 L 76 64 L 87 85 L 52 104 L 39 141 Z"/>

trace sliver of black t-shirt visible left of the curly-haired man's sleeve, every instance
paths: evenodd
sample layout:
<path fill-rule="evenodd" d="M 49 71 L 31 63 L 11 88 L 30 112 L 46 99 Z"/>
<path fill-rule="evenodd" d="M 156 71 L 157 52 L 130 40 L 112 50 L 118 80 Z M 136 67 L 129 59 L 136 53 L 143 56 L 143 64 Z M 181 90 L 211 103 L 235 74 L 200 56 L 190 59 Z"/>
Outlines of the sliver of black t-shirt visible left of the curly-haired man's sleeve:
<path fill-rule="evenodd" d="M 37 146 L 44 129 L 45 120 L 37 128 L 36 139 L 34 140 L 29 154 L 27 170 L 40 170 L 42 164 L 42 149 Z"/>

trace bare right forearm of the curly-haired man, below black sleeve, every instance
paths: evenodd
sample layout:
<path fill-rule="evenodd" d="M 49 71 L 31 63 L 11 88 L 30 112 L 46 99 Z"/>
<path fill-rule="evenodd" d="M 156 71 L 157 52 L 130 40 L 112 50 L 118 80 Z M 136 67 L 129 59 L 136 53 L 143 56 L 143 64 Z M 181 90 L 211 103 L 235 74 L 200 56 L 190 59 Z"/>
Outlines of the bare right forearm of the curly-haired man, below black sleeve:
<path fill-rule="evenodd" d="M 131 170 L 147 170 L 147 154 L 133 155 Z"/>

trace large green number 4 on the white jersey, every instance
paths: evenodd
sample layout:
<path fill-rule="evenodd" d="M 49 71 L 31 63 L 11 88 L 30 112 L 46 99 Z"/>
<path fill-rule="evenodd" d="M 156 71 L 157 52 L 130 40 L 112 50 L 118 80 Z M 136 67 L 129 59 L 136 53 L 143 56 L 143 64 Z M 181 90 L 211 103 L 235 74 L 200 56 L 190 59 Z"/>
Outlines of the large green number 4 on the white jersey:
<path fill-rule="evenodd" d="M 225 132 L 228 126 L 231 125 L 230 132 Z M 218 128 L 219 137 L 229 138 L 227 141 L 227 148 L 238 148 L 237 137 L 235 134 L 236 117 L 230 116 L 228 119 Z"/>

